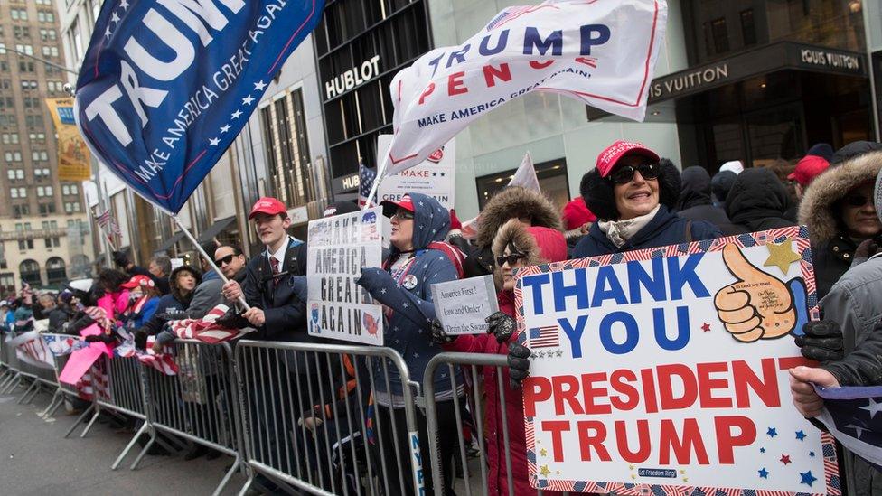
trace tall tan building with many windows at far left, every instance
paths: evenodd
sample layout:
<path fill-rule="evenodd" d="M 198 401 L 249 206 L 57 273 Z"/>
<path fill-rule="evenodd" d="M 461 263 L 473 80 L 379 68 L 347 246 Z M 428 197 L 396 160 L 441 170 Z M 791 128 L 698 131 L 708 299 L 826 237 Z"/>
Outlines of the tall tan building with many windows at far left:
<path fill-rule="evenodd" d="M 82 184 L 56 176 L 45 103 L 67 96 L 67 78 L 40 60 L 65 64 L 55 0 L 0 2 L 0 295 L 57 288 L 94 258 Z"/>

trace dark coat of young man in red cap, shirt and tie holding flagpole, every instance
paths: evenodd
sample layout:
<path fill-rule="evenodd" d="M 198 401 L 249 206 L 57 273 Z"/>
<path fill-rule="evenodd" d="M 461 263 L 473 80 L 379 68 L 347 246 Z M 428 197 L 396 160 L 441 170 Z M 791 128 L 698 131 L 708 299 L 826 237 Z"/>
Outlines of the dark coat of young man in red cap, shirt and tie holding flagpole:
<path fill-rule="evenodd" d="M 284 342 L 322 342 L 306 332 L 306 280 L 300 276 L 303 241 L 289 238 L 285 262 L 273 277 L 267 251 L 249 260 L 242 291 L 245 301 L 264 311 L 266 323 L 249 339 Z"/>

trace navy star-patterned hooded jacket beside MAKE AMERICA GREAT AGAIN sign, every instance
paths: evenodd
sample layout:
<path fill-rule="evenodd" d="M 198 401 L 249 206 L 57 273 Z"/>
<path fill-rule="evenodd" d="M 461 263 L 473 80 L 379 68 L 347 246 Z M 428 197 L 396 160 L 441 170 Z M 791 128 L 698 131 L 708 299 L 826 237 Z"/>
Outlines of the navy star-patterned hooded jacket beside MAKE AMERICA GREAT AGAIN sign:
<path fill-rule="evenodd" d="M 432 304 L 432 285 L 453 281 L 458 277 L 453 262 L 438 249 L 427 249 L 432 242 L 445 239 L 450 229 L 450 214 L 435 199 L 424 194 L 411 193 L 410 198 L 416 211 L 413 220 L 412 260 L 407 268 L 393 278 L 387 270 L 377 267 L 366 267 L 361 270 L 361 277 L 356 281 L 371 296 L 389 308 L 383 326 L 383 343 L 401 353 L 410 371 L 410 378 L 421 381 L 428 361 L 441 352 L 441 348 L 432 342 L 431 322 L 435 319 L 435 305 Z M 389 253 L 391 265 L 400 252 L 392 248 Z M 383 360 L 374 360 L 375 372 L 383 376 Z M 398 370 L 389 368 L 389 387 L 386 381 L 379 380 L 376 391 L 401 395 L 401 378 Z M 457 376 L 459 371 L 456 371 Z M 463 384 L 457 380 L 457 384 Z M 442 368 L 435 378 L 436 395 L 449 393 L 450 377 Z"/>

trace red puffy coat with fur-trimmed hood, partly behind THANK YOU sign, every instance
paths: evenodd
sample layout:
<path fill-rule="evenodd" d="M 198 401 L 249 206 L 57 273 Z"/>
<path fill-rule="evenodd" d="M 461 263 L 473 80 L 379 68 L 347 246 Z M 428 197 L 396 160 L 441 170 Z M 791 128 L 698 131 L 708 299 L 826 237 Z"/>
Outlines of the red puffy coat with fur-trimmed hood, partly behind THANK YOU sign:
<path fill-rule="evenodd" d="M 556 229 L 541 227 L 524 228 L 517 220 L 507 222 L 496 239 L 493 240 L 493 253 L 502 255 L 505 246 L 510 242 L 527 255 L 525 265 L 558 262 L 567 258 L 567 241 Z M 497 294 L 500 312 L 514 317 L 514 293 L 501 291 Z M 512 336 L 511 340 L 515 338 Z M 487 353 L 507 355 L 508 342 L 500 344 L 493 334 L 472 334 L 457 337 L 445 345 L 448 351 L 464 353 Z M 536 490 L 530 488 L 530 477 L 527 466 L 527 444 L 524 439 L 523 395 L 521 391 L 509 386 L 508 368 L 502 368 L 502 388 L 505 405 L 502 405 L 502 394 L 499 390 L 499 379 L 495 367 L 483 368 L 483 387 L 486 395 L 484 408 L 485 446 L 489 473 L 487 474 L 487 494 L 509 494 L 508 477 L 505 470 L 505 445 L 502 435 L 502 416 L 509 433 L 509 453 L 511 453 L 511 481 L 514 483 L 514 494 L 533 495 Z M 477 419 L 481 421 L 481 419 Z M 555 491 L 544 491 L 543 494 L 559 494 Z"/>

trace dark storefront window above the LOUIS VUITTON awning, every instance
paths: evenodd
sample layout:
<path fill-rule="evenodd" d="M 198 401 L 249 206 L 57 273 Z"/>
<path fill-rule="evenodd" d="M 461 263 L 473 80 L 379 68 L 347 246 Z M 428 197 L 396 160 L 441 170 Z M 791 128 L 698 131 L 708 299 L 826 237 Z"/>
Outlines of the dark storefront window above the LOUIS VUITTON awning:
<path fill-rule="evenodd" d="M 862 8 L 858 0 L 688 0 L 690 64 L 781 41 L 864 51 Z"/>

